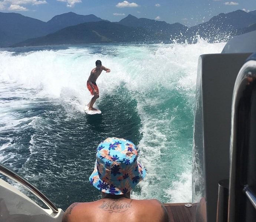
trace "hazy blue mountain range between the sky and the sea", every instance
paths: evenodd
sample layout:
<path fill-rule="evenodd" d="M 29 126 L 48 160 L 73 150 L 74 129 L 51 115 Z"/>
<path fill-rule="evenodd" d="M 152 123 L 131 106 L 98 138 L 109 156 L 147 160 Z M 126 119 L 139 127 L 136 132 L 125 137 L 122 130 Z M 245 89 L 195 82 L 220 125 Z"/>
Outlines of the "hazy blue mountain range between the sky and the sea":
<path fill-rule="evenodd" d="M 94 15 L 72 12 L 43 22 L 17 13 L 0 13 L 0 47 L 58 44 L 194 41 L 200 35 L 210 42 L 226 41 L 231 36 L 256 30 L 256 10 L 221 13 L 206 23 L 188 28 L 128 15 L 110 22 Z"/>

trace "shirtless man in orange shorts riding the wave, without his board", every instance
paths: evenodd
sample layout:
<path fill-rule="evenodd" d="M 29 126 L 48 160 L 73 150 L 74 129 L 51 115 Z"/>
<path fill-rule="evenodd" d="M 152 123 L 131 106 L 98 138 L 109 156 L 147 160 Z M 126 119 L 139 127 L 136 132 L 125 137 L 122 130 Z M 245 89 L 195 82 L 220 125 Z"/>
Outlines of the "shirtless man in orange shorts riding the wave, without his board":
<path fill-rule="evenodd" d="M 99 77 L 99 75 L 101 74 L 102 70 L 106 71 L 106 73 L 110 72 L 109 68 L 106 68 L 101 64 L 101 60 L 97 60 L 96 68 L 93 68 L 93 70 L 91 71 L 91 75 L 89 76 L 89 78 L 87 80 L 87 88 L 91 92 L 91 94 L 94 95 L 92 97 L 92 100 L 87 105 L 89 107 L 88 110 L 97 110 L 97 109 L 93 108 L 92 106 L 93 106 L 94 102 L 96 101 L 96 99 L 99 98 L 99 89 L 98 89 L 98 86 L 96 85 L 96 80 Z"/>

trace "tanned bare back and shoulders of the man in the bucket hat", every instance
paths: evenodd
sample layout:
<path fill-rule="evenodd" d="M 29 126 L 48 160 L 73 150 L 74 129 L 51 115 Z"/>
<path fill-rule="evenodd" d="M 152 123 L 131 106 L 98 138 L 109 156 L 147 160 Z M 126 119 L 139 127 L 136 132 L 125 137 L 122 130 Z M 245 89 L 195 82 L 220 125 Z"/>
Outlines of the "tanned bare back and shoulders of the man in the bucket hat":
<path fill-rule="evenodd" d="M 65 211 L 62 222 L 169 222 L 165 207 L 156 199 L 100 199 L 73 203 Z"/>

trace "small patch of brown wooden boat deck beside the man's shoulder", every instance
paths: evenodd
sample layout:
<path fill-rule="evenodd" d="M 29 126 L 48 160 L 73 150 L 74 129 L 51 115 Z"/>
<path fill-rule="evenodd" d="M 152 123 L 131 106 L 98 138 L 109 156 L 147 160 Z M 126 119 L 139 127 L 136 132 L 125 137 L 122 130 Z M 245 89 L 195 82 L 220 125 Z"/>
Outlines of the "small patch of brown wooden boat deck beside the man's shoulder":
<path fill-rule="evenodd" d="M 191 222 L 196 213 L 196 205 L 187 207 L 187 203 L 164 203 L 170 222 Z"/>

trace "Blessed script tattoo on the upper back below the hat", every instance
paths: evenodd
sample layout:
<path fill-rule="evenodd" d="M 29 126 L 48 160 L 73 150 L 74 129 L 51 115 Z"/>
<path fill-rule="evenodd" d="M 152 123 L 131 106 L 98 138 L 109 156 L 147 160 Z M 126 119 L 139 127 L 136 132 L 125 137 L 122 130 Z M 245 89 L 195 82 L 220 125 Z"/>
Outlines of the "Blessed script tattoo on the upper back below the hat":
<path fill-rule="evenodd" d="M 127 201 L 103 201 L 102 205 L 99 206 L 99 209 L 103 209 L 104 211 L 109 211 L 109 213 L 122 213 L 131 208 L 131 203 Z"/>

